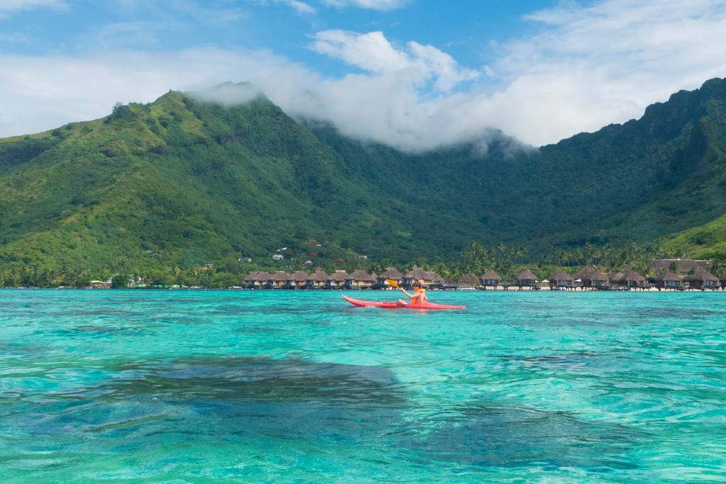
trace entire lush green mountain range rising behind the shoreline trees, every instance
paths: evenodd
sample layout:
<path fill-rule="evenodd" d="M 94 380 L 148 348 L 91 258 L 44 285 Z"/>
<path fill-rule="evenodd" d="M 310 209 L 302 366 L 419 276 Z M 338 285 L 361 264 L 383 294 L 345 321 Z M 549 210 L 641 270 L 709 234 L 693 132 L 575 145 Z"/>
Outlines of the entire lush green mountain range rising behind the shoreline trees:
<path fill-rule="evenodd" d="M 262 96 L 227 108 L 170 91 L 0 140 L 0 268 L 269 261 L 282 247 L 298 260 L 436 261 L 470 240 L 534 258 L 648 242 L 726 213 L 725 148 L 723 79 L 539 149 L 490 133 L 423 154 L 295 121 Z"/>

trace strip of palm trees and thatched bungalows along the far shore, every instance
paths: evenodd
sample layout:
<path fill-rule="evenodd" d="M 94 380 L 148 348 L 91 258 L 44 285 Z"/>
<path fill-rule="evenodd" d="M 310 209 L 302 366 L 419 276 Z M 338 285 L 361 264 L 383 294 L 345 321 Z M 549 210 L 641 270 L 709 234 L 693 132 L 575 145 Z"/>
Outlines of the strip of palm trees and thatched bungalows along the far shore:
<path fill-rule="evenodd" d="M 391 279 L 401 287 L 410 288 L 420 282 L 430 290 L 639 290 L 639 291 L 726 291 L 726 271 L 716 276 L 711 271 L 712 261 L 690 259 L 656 259 L 647 266 L 640 264 L 643 274 L 632 266 L 620 270 L 600 271 L 596 266 L 582 268 L 535 268 L 539 276 L 529 268 L 508 271 L 515 274 L 502 277 L 497 271 L 470 272 L 455 275 L 437 274 L 424 268 L 414 267 L 399 271 L 387 267 L 380 274 L 358 269 L 355 271 L 335 270 L 329 273 L 317 268 L 307 271 L 253 271 L 246 276 L 240 273 L 215 273 L 212 263 L 196 267 L 189 278 L 176 272 L 174 278 L 162 271 L 151 274 L 114 274 L 105 280 L 91 280 L 80 284 L 6 284 L 0 287 L 57 289 L 247 289 L 247 290 L 391 290 L 387 280 Z M 215 274 L 221 274 L 216 279 Z M 544 276 L 547 274 L 547 276 Z M 1 275 L 1 274 L 0 274 Z M 181 276 L 181 277 L 179 277 Z M 186 280 L 184 280 L 186 279 Z M 222 284 L 219 284 L 222 282 Z"/>

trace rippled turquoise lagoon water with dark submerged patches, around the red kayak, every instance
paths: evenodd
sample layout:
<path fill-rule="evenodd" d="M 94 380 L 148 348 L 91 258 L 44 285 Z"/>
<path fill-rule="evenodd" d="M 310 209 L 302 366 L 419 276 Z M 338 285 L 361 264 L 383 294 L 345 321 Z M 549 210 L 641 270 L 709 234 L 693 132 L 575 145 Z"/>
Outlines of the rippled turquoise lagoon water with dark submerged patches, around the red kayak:
<path fill-rule="evenodd" d="M 726 479 L 726 294 L 432 299 L 0 291 L 0 479 Z"/>

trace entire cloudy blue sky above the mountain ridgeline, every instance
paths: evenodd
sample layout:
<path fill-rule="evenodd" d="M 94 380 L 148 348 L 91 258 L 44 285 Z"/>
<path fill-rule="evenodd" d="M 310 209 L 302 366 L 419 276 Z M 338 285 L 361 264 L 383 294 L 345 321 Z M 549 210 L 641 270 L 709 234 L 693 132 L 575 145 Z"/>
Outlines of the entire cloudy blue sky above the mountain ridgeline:
<path fill-rule="evenodd" d="M 0 136 L 253 81 L 404 149 L 545 144 L 726 75 L 724 32 L 724 0 L 0 0 Z"/>

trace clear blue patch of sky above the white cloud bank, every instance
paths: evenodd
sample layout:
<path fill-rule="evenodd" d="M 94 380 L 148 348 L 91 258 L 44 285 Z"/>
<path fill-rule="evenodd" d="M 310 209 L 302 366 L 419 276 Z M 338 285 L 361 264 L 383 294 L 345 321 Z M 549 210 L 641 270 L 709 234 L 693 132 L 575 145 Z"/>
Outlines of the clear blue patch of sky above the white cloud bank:
<path fill-rule="evenodd" d="M 391 42 L 415 39 L 439 46 L 462 65 L 478 68 L 496 57 L 497 44 L 536 31 L 539 25 L 526 15 L 555 2 L 410 0 L 389 9 L 317 0 L 304 4 L 311 10 L 300 11 L 287 1 L 273 0 L 28 1 L 25 8 L 6 10 L 4 21 L 0 20 L 0 46 L 7 53 L 34 55 L 107 48 L 270 49 L 322 73 L 343 75 L 345 65 L 308 48 L 310 37 L 329 29 L 380 30 Z"/>

